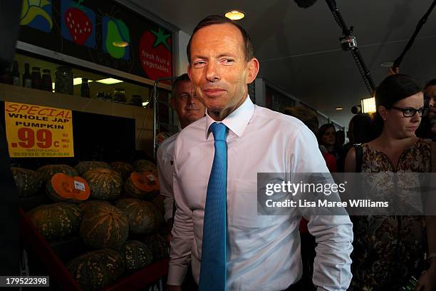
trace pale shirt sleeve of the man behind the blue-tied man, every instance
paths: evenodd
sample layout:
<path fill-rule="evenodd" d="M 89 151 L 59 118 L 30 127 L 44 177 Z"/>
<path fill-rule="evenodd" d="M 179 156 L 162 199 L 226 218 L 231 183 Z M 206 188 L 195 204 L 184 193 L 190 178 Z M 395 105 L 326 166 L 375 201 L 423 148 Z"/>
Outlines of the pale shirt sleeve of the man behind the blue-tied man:
<path fill-rule="evenodd" d="M 165 170 L 169 170 L 170 168 L 165 167 L 164 155 L 165 153 L 162 150 L 162 146 L 157 148 L 157 175 L 159 175 L 160 194 L 165 196 L 164 217 L 165 217 L 165 221 L 168 221 L 170 218 L 172 218 L 174 195 L 172 194 L 172 180 L 167 179 L 167 177 L 172 177 L 172 168 L 171 168 L 171 175 L 165 173 Z"/>

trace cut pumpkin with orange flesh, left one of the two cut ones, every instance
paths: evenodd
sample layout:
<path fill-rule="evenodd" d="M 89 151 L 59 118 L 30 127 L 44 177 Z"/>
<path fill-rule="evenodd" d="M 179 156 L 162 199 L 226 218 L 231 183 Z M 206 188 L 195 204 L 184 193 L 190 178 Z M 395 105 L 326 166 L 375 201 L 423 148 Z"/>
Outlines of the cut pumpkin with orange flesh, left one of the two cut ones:
<path fill-rule="evenodd" d="M 62 173 L 54 174 L 47 180 L 46 194 L 56 202 L 82 203 L 88 199 L 90 188 L 85 179 L 70 177 Z"/>

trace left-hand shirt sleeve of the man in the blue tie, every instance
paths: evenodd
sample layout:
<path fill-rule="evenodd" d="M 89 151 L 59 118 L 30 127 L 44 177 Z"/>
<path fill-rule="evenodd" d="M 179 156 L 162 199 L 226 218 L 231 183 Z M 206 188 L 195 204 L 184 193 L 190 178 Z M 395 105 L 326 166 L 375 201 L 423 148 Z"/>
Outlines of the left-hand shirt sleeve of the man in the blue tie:
<path fill-rule="evenodd" d="M 177 139 L 178 140 L 178 139 Z M 168 285 L 182 285 L 191 260 L 191 248 L 194 241 L 194 225 L 192 210 L 187 205 L 177 168 L 177 141 L 174 154 L 173 192 L 176 203 L 174 225 L 170 250 L 170 267 L 168 270 Z"/>

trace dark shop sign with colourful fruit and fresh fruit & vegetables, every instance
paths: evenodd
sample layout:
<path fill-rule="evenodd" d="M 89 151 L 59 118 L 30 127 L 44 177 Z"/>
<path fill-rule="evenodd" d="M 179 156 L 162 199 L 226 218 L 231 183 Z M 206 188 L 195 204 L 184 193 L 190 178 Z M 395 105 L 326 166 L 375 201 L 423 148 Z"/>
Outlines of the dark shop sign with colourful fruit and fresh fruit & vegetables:
<path fill-rule="evenodd" d="M 113 0 L 24 0 L 19 40 L 99 65 L 172 76 L 171 32 Z"/>

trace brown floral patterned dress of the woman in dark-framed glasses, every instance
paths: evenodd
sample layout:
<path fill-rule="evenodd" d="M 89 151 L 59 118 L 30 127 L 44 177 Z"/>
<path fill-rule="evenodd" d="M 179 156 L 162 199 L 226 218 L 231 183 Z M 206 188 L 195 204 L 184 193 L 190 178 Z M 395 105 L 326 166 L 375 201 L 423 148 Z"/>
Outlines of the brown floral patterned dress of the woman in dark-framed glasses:
<path fill-rule="evenodd" d="M 431 172 L 431 143 L 418 140 L 401 153 L 397 168 L 382 152 L 363 145 L 362 172 Z M 382 177 L 382 175 L 380 175 Z M 383 187 L 383 181 L 379 186 Z M 349 290 L 400 290 L 425 266 L 423 216 L 354 216 L 353 280 Z"/>

